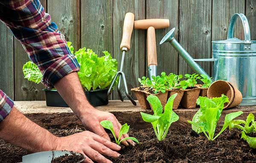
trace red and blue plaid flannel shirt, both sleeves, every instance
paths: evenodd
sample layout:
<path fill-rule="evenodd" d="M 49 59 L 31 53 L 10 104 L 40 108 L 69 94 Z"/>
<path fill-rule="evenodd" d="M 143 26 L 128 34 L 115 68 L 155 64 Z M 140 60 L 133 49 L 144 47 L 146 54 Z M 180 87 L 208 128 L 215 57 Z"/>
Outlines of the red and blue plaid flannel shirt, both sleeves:
<path fill-rule="evenodd" d="M 67 47 L 39 0 L 0 0 L 0 20 L 12 31 L 43 74 L 41 82 L 51 88 L 59 79 L 79 71 Z M 0 90 L 0 121 L 11 111 L 13 101 Z"/>

